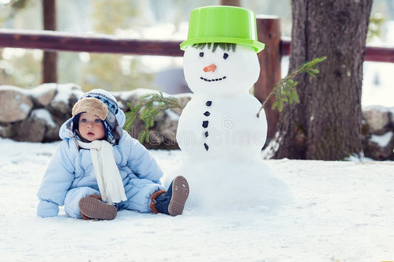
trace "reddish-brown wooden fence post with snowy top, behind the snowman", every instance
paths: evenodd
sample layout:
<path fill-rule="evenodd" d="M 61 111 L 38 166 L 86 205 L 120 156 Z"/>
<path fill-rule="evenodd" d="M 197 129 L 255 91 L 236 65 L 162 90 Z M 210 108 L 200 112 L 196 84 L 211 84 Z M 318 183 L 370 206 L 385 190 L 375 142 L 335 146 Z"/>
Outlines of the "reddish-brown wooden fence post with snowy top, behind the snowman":
<path fill-rule="evenodd" d="M 257 16 L 257 38 L 265 44 L 265 48 L 257 54 L 260 62 L 260 77 L 255 84 L 254 95 L 263 102 L 281 78 L 280 19 L 275 16 Z M 268 124 L 267 141 L 275 135 L 279 118 L 278 110 L 271 110 L 274 101 L 273 97 L 264 107 Z"/>

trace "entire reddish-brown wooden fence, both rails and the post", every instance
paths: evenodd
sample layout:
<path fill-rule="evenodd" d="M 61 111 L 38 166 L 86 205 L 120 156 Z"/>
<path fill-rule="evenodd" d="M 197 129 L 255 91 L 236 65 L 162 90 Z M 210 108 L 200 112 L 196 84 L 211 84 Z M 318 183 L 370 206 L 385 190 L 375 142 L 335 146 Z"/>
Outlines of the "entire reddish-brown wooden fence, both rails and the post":
<path fill-rule="evenodd" d="M 263 101 L 271 88 L 281 77 L 281 57 L 290 54 L 290 41 L 281 39 L 280 19 L 258 16 L 257 33 L 265 49 L 258 54 L 260 77 L 254 87 L 254 95 Z M 111 35 L 76 35 L 52 31 L 26 31 L 0 29 L 0 48 L 30 48 L 44 51 L 71 51 L 115 53 L 131 55 L 153 55 L 181 57 L 179 49 L 182 41 L 177 40 L 139 40 L 119 38 Z M 367 47 L 365 61 L 394 63 L 394 48 Z M 266 105 L 270 108 L 273 99 Z M 266 110 L 268 137 L 274 135 L 278 112 Z"/>

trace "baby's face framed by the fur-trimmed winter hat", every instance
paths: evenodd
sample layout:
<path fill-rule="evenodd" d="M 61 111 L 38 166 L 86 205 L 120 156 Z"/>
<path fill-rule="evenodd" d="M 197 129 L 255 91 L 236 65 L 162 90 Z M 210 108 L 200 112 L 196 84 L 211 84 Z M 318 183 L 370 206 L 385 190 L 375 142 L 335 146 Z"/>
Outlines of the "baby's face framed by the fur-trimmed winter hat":
<path fill-rule="evenodd" d="M 99 117 L 90 113 L 82 113 L 79 116 L 79 133 L 88 141 L 100 140 L 104 138 L 105 131 Z"/>

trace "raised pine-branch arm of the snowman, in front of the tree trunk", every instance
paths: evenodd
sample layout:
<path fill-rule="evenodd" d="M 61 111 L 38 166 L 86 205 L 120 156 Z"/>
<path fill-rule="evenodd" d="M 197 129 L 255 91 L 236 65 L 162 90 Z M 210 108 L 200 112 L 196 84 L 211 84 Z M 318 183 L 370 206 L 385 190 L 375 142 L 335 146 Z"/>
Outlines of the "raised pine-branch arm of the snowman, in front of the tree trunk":
<path fill-rule="evenodd" d="M 316 74 L 320 72 L 319 69 L 317 69 L 315 66 L 319 63 L 322 63 L 326 59 L 327 57 L 318 57 L 310 62 L 305 61 L 300 66 L 298 66 L 296 71 L 294 71 L 290 75 L 287 75 L 286 77 L 282 78 L 278 83 L 276 83 L 276 85 L 269 93 L 268 97 L 265 98 L 262 107 L 257 113 L 257 117 L 260 116 L 260 112 L 263 110 L 264 105 L 272 96 L 275 96 L 275 101 L 271 106 L 272 110 L 278 108 L 278 111 L 282 112 L 284 102 L 288 102 L 289 104 L 293 104 L 294 102 L 296 102 L 299 104 L 300 100 L 296 90 L 298 81 L 293 81 L 293 78 L 300 73 L 307 73 L 312 77 L 315 77 Z"/>

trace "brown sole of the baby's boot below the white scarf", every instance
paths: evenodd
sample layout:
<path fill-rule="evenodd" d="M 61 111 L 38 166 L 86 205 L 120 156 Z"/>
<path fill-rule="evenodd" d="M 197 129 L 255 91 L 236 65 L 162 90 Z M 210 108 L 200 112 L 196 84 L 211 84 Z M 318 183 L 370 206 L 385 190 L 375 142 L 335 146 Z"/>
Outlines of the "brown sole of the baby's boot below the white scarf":
<path fill-rule="evenodd" d="M 83 197 L 78 202 L 81 213 L 93 219 L 113 220 L 118 213 L 115 206 L 101 202 L 94 197 Z"/>

